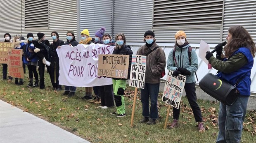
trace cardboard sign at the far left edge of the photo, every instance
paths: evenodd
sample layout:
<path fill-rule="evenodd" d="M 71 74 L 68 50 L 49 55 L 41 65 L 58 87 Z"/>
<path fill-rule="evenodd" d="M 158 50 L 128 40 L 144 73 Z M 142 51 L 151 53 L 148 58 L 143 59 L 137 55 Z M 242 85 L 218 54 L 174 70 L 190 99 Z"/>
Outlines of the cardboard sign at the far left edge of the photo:
<path fill-rule="evenodd" d="M 13 48 L 13 44 L 9 42 L 0 42 L 0 63 L 7 64 L 8 63 L 8 55 L 10 49 Z"/>

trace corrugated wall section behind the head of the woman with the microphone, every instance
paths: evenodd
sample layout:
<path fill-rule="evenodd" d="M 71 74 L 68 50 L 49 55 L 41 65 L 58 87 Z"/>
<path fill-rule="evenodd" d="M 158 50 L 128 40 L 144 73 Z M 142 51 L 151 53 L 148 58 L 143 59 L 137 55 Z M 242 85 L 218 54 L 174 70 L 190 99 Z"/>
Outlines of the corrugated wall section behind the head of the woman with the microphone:
<path fill-rule="evenodd" d="M 242 25 L 256 43 L 256 0 L 225 0 L 223 40 L 232 25 Z"/>

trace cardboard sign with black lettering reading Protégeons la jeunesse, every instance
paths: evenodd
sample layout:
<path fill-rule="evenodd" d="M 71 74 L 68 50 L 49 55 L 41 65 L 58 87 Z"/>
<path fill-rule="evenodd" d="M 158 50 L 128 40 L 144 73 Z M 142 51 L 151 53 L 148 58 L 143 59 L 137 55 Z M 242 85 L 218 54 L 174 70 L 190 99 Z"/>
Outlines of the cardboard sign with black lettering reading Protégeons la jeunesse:
<path fill-rule="evenodd" d="M 127 78 L 129 55 L 99 55 L 99 76 Z"/>

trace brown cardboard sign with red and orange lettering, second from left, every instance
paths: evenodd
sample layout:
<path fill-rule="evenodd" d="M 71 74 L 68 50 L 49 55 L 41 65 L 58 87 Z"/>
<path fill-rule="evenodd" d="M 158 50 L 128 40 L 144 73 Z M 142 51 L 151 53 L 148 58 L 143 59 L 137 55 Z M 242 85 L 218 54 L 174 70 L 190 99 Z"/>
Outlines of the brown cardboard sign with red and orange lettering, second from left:
<path fill-rule="evenodd" d="M 11 49 L 10 55 L 8 55 L 8 71 L 12 77 L 24 78 L 22 50 Z"/>

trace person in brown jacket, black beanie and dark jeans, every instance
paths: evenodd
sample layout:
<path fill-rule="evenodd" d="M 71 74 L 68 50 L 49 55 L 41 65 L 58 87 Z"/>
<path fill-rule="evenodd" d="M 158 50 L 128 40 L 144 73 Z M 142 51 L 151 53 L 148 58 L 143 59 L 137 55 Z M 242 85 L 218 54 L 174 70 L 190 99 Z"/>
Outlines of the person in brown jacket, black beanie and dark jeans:
<path fill-rule="evenodd" d="M 155 34 L 147 30 L 144 34 L 145 45 L 137 51 L 137 55 L 147 55 L 145 88 L 141 91 L 142 115 L 141 123 L 156 124 L 158 118 L 157 97 L 159 93 L 161 72 L 165 70 L 166 58 L 164 50 L 156 44 Z M 150 111 L 149 111 L 150 99 Z"/>

